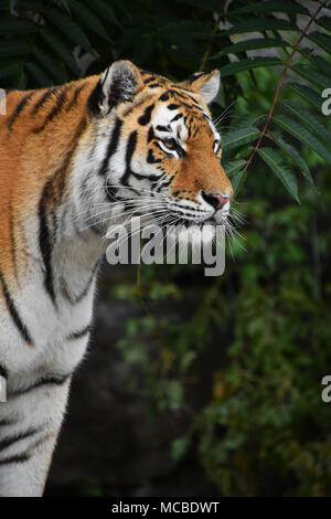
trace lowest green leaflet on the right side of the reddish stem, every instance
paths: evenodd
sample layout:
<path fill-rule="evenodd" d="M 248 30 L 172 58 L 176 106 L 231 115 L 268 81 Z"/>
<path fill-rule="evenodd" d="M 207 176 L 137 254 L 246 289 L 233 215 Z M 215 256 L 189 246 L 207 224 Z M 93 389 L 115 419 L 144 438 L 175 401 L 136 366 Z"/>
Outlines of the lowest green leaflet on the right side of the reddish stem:
<path fill-rule="evenodd" d="M 288 192 L 300 203 L 298 195 L 298 182 L 289 163 L 284 161 L 282 156 L 273 148 L 259 148 L 258 155 L 269 166 L 271 171 L 279 178 Z"/>

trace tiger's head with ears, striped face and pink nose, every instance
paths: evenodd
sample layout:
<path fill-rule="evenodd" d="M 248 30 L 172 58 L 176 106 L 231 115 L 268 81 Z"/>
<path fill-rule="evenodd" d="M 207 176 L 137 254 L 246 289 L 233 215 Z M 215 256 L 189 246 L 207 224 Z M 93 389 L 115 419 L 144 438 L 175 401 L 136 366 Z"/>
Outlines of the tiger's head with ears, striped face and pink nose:
<path fill-rule="evenodd" d="M 89 219 L 100 233 L 110 213 L 186 227 L 226 221 L 233 189 L 207 108 L 218 88 L 218 71 L 173 83 L 129 61 L 115 62 L 99 77 L 88 98 L 88 146 L 81 146 L 78 167 L 89 178 L 96 171 L 81 192 L 93 200 Z"/>

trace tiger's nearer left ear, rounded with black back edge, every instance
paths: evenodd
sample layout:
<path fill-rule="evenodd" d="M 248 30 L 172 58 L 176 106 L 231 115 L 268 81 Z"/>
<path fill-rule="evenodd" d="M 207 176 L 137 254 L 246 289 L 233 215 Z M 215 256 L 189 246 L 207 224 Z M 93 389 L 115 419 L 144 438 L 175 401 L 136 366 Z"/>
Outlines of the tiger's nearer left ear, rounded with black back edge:
<path fill-rule="evenodd" d="M 89 103 L 93 112 L 108 115 L 119 103 L 129 103 L 143 87 L 139 68 L 130 61 L 116 61 L 102 75 Z"/>

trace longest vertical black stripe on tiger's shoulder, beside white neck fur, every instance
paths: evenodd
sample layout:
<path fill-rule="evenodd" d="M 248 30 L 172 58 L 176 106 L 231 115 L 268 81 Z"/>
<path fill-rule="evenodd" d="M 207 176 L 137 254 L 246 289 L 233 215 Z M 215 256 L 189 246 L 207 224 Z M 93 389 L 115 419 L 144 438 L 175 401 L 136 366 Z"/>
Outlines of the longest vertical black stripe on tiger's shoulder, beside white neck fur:
<path fill-rule="evenodd" d="M 54 277 L 52 269 L 52 246 L 53 240 L 47 225 L 46 203 L 53 193 L 52 179 L 50 179 L 43 190 L 42 198 L 39 203 L 39 246 L 42 254 L 45 272 L 44 287 L 55 305 Z"/>

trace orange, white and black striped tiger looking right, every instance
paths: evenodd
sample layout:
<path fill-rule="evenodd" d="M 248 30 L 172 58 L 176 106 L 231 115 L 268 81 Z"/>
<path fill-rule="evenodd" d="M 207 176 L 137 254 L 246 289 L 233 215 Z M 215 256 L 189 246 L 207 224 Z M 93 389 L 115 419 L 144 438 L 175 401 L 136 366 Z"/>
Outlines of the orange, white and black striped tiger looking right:
<path fill-rule="evenodd" d="M 226 222 L 233 188 L 209 105 L 220 72 L 182 82 L 115 61 L 6 92 L 0 115 L 0 495 L 39 497 L 85 357 L 109 218 Z"/>

